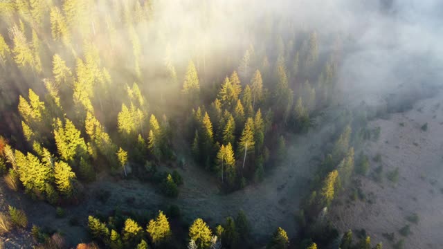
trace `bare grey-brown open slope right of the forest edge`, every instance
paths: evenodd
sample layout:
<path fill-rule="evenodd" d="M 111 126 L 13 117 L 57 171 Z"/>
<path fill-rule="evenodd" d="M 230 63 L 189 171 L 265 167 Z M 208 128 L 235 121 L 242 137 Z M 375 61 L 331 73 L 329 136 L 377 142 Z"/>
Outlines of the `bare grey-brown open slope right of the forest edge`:
<path fill-rule="evenodd" d="M 428 123 L 427 131 L 421 129 Z M 383 181 L 359 177 L 368 201 L 347 205 L 349 192 L 341 194 L 330 210 L 334 224 L 347 229 L 364 228 L 373 243 L 392 248 L 404 239 L 405 249 L 442 248 L 443 245 L 443 92 L 420 100 L 405 113 L 392 114 L 389 120 L 375 120 L 370 127 L 381 127 L 377 142 L 368 142 L 363 151 L 369 158 L 381 154 L 381 163 L 370 160 L 370 172 L 383 165 Z M 386 173 L 399 167 L 399 181 L 392 183 Z M 419 222 L 405 217 L 417 213 Z M 407 237 L 399 229 L 410 225 Z M 395 233 L 394 242 L 383 233 Z"/>

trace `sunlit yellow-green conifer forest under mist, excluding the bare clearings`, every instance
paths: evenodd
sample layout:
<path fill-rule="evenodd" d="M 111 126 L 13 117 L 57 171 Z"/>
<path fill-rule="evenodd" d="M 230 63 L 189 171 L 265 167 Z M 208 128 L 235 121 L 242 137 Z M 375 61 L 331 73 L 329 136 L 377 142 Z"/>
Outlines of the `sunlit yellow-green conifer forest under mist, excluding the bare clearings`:
<path fill-rule="evenodd" d="M 3 200 L 0 237 L 28 232 L 23 248 L 382 248 L 337 230 L 327 209 L 368 173 L 360 145 L 378 140 L 368 120 L 386 110 L 342 108 L 338 72 L 352 38 L 276 2 L 1 1 L 1 184 L 66 223 L 31 223 L 23 205 Z M 214 220 L 177 205 L 196 181 L 226 198 L 263 185 L 293 163 L 299 138 L 328 124 L 299 205 L 284 214 L 296 232 L 257 236 L 249 210 Z M 105 181 L 152 187 L 163 201 L 144 212 L 104 208 L 123 195 L 96 191 Z M 63 232 L 68 220 L 83 235 Z"/>

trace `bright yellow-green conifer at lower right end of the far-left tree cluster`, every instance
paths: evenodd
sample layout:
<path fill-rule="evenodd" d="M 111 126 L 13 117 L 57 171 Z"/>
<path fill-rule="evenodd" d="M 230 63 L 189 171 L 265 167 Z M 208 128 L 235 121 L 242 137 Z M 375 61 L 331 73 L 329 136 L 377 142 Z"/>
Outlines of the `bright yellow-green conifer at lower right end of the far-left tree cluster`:
<path fill-rule="evenodd" d="M 55 162 L 54 178 L 57 190 L 64 196 L 70 197 L 73 194 L 73 181 L 75 180 L 75 173 L 72 172 L 71 167 L 63 161 Z"/>

